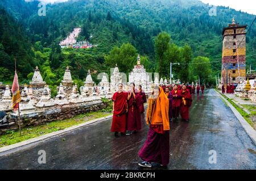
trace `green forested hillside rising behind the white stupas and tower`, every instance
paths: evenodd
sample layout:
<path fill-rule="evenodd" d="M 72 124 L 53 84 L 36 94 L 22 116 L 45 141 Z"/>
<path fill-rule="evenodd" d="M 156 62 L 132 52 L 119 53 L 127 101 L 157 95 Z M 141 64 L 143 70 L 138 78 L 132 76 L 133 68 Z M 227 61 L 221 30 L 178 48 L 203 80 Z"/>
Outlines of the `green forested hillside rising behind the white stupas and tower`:
<path fill-rule="evenodd" d="M 231 23 L 233 16 L 236 22 L 248 25 L 255 17 L 255 15 L 226 7 L 217 7 L 217 16 L 209 16 L 210 7 L 197 0 L 68 1 L 47 5 L 46 16 L 38 16 L 38 2 L 18 1 L 3 0 L 0 2 L 0 5 L 10 14 L 6 15 L 6 12 L 2 10 L 1 19 L 8 16 L 7 21 L 10 24 L 20 27 L 20 33 L 10 32 L 10 36 L 0 34 L 0 39 L 21 34 L 21 38 L 15 41 L 16 44 L 20 44 L 19 48 L 25 46 L 26 50 L 22 53 L 21 50 L 15 51 L 16 58 L 20 61 L 19 74 L 24 82 L 28 82 L 32 74 L 28 77 L 27 74 L 32 72 L 32 67 L 38 65 L 42 71 L 47 69 L 43 77 L 51 86 L 60 83 L 67 65 L 71 66 L 72 76 L 79 82 L 79 85 L 86 77 L 88 69 L 92 70 L 94 79 L 98 72 L 109 72 L 110 66 L 113 66 L 110 59 L 117 57 L 117 54 L 120 57 L 127 54 L 118 53 L 122 50 L 122 45 L 124 50 L 127 46 L 131 49 L 134 47 L 136 53 L 142 54 L 147 70 L 160 70 L 163 77 L 168 77 L 170 73 L 168 66 L 170 61 L 181 62 L 183 63 L 181 66 L 174 67 L 175 76 L 182 77 L 183 72 L 187 71 L 188 78 L 183 79 L 191 81 L 194 77 L 188 70 L 195 70 L 193 67 L 189 68 L 188 64 L 196 57 L 195 61 L 198 61 L 198 56 L 207 57 L 212 62 L 209 64 L 212 69 L 210 74 L 215 75 L 220 73 L 221 69 L 222 28 Z M 98 47 L 61 50 L 58 43 L 65 39 L 75 27 L 82 28 L 79 40 L 84 40 L 92 34 L 93 37 L 89 41 L 98 44 Z M 16 30 L 13 26 L 10 28 L 13 31 Z M 168 43 L 161 56 L 157 52 L 156 37 L 163 31 L 167 32 L 170 39 L 168 35 L 162 34 Z M 247 66 L 251 64 L 253 69 L 256 68 L 255 35 L 256 26 L 254 25 L 246 37 Z M 166 41 L 159 41 L 159 45 Z M 13 74 L 11 71 L 13 71 L 14 52 L 11 52 L 10 45 L 6 45 L 6 42 L 12 41 L 2 40 L 1 42 L 2 53 L 9 57 L 9 59 L 2 58 L 1 63 L 5 61 L 5 65 L 0 65 L 1 71 L 10 70 L 10 75 L 5 74 L 0 81 L 10 81 Z M 130 53 L 127 56 L 134 57 L 134 52 L 130 51 Z M 136 60 L 135 58 L 133 61 Z M 129 58 L 119 60 L 121 71 L 126 72 L 132 68 L 131 64 L 127 64 L 129 67 L 122 66 L 127 60 Z M 161 61 L 164 67 L 160 69 Z M 24 69 L 22 65 L 28 67 Z"/>

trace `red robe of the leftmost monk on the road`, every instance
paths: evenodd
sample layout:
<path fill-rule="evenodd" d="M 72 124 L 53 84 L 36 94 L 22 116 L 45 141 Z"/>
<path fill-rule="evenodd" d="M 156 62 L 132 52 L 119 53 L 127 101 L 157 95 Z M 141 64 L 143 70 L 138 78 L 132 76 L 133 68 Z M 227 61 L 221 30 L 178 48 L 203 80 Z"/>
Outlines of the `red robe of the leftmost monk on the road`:
<path fill-rule="evenodd" d="M 127 96 L 127 92 L 115 92 L 113 95 L 114 113 L 111 127 L 112 132 L 126 132 Z"/>

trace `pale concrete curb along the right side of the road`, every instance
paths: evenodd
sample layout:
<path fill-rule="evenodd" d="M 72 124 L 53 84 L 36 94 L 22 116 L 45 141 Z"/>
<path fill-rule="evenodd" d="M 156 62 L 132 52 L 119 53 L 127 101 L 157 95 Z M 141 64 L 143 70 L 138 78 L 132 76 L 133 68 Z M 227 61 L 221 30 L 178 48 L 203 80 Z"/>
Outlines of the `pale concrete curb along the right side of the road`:
<path fill-rule="evenodd" d="M 248 134 L 248 136 L 254 142 L 254 145 L 256 145 L 256 131 L 251 127 L 251 125 L 249 123 L 247 123 L 247 121 L 243 118 L 243 116 L 240 114 L 240 112 L 238 112 L 236 110 L 236 108 L 234 108 L 234 106 L 232 104 L 230 104 L 230 102 L 228 100 L 226 100 L 226 98 L 224 98 L 224 96 L 221 95 L 221 93 L 219 91 L 217 91 L 217 90 L 215 90 L 215 91 L 218 92 L 219 96 L 221 96 L 221 98 L 226 102 L 226 104 L 228 104 L 230 109 L 233 111 L 234 115 L 240 121 L 243 129 L 245 129 L 245 132 Z"/>

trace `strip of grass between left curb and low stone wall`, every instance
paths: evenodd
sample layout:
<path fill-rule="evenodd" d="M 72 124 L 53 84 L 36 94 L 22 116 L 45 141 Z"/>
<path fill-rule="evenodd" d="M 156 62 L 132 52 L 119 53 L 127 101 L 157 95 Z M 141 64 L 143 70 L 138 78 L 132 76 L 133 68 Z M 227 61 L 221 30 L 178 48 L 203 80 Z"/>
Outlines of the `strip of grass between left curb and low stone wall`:
<path fill-rule="evenodd" d="M 37 125 L 34 127 L 22 128 L 22 136 L 19 135 L 19 131 L 7 131 L 5 134 L 0 135 L 0 148 L 2 146 L 16 144 L 17 142 L 28 140 L 42 136 L 47 133 L 63 130 L 65 128 L 72 127 L 77 124 L 85 123 L 87 121 L 97 119 L 100 117 L 111 115 L 110 112 L 88 112 L 81 115 L 72 117 L 71 119 L 56 120 L 46 123 L 44 125 Z"/>

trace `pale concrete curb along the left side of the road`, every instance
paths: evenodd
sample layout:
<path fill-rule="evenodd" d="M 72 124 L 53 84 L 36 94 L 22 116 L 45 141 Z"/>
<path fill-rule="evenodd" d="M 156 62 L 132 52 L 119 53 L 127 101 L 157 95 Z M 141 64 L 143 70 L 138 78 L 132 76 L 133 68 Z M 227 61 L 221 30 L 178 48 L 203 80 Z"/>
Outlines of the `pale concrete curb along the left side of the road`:
<path fill-rule="evenodd" d="M 44 134 L 43 136 L 31 138 L 29 140 L 21 141 L 21 142 L 18 142 L 16 144 L 13 144 L 13 145 L 3 146 L 2 148 L 0 148 L 0 156 L 5 155 L 6 154 L 5 152 L 13 152 L 16 149 L 17 149 L 16 151 L 18 151 L 19 148 L 22 148 L 23 146 L 32 145 L 32 144 L 35 144 L 36 142 L 44 141 L 44 140 L 47 140 L 48 138 L 51 138 L 51 137 L 54 137 L 54 136 L 59 136 L 61 134 L 64 134 L 64 133 L 67 133 L 67 132 L 70 132 L 70 131 L 74 131 L 75 129 L 79 129 L 79 128 L 85 127 L 86 125 L 93 124 L 93 123 L 96 123 L 98 121 L 102 121 L 102 120 L 105 120 L 105 119 L 109 119 L 111 117 L 113 117 L 113 115 L 100 117 L 100 118 L 97 118 L 97 119 L 94 119 L 94 120 L 87 121 L 85 123 L 81 123 L 81 124 L 78 124 L 78 125 L 75 125 L 75 126 L 72 126 L 72 127 L 69 127 L 69 128 L 65 128 L 65 129 L 60 130 L 60 131 Z"/>

